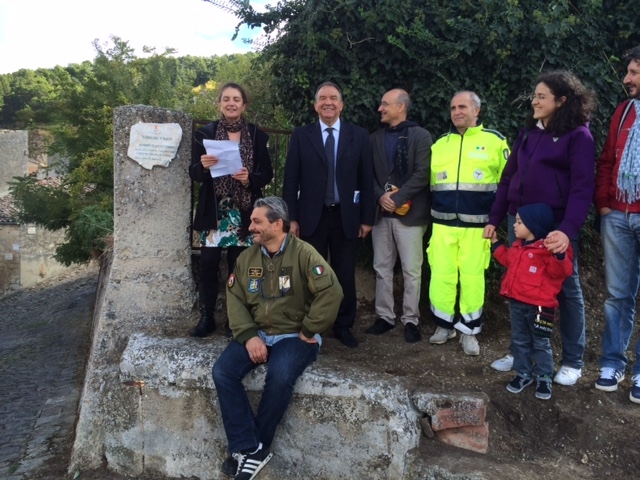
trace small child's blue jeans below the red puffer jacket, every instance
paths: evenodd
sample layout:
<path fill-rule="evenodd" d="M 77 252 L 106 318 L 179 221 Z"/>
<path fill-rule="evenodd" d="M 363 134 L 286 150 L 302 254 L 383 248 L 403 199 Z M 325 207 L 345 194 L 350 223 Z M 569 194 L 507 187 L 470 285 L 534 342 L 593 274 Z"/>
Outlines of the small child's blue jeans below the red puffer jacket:
<path fill-rule="evenodd" d="M 538 307 L 509 299 L 513 369 L 526 377 L 531 377 L 532 373 L 538 377 L 552 377 L 551 341 L 533 333 L 537 313 Z"/>

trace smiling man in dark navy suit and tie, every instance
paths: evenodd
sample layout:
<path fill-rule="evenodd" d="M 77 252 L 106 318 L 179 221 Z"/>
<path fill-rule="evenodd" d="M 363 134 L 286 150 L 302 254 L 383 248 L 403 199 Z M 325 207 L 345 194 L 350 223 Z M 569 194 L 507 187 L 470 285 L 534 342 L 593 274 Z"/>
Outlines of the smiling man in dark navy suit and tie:
<path fill-rule="evenodd" d="M 347 347 L 356 347 L 350 331 L 356 315 L 356 247 L 371 231 L 375 203 L 369 134 L 340 120 L 343 107 L 337 85 L 318 87 L 318 122 L 293 131 L 282 198 L 291 233 L 330 260 L 344 292 L 333 332 Z"/>

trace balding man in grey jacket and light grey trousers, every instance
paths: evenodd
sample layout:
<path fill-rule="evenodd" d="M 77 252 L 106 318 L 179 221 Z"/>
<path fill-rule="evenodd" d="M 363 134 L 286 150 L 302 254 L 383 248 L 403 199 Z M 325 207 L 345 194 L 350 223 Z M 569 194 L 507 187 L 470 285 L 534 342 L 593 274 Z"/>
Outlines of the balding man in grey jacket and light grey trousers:
<path fill-rule="evenodd" d="M 376 320 L 366 333 L 382 335 L 395 327 L 393 269 L 398 255 L 404 293 L 401 321 L 407 342 L 419 341 L 422 238 L 429 222 L 431 134 L 407 120 L 411 99 L 401 89 L 382 97 L 378 112 L 385 128 L 370 136 L 373 194 L 378 204 L 371 235 L 376 271 Z"/>

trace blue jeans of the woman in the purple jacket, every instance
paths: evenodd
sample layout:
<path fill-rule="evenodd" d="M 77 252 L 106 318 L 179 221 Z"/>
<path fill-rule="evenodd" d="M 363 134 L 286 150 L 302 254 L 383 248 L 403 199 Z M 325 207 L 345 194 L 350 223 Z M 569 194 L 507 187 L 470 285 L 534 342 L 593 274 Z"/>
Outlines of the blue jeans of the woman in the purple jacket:
<path fill-rule="evenodd" d="M 515 240 L 513 224 L 515 216 L 509 215 L 509 243 Z M 558 225 L 555 225 L 556 228 Z M 572 368 L 582 368 L 584 365 L 584 349 L 587 344 L 584 318 L 584 298 L 578 276 L 578 239 L 571 239 L 573 247 L 573 273 L 562 284 L 558 295 L 560 310 L 560 336 L 562 338 L 562 365 Z M 513 354 L 513 352 L 511 352 Z"/>

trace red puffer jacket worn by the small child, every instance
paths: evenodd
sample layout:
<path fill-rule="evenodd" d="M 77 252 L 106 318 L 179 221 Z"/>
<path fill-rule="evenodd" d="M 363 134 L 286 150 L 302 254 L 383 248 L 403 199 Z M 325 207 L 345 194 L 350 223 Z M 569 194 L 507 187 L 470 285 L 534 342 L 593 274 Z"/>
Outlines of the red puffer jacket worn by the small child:
<path fill-rule="evenodd" d="M 500 294 L 530 305 L 558 306 L 556 297 L 562 283 L 573 272 L 571 245 L 563 260 L 547 250 L 543 239 L 526 245 L 516 240 L 510 248 L 500 245 L 493 256 L 507 267 Z"/>

